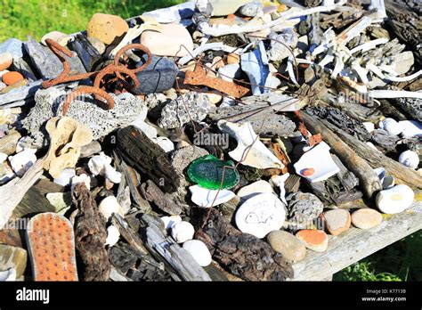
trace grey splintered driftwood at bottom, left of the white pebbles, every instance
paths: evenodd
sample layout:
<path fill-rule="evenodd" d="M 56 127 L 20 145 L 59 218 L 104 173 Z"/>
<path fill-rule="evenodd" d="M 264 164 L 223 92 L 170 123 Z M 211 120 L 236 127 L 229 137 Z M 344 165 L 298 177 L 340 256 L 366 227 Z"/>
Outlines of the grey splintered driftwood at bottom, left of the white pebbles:
<path fill-rule="evenodd" d="M 145 246 L 166 265 L 166 271 L 175 281 L 211 281 L 207 272 L 191 257 L 191 254 L 178 245 L 173 238 L 166 236 L 164 224 L 150 215 L 141 217 L 141 229 Z"/>

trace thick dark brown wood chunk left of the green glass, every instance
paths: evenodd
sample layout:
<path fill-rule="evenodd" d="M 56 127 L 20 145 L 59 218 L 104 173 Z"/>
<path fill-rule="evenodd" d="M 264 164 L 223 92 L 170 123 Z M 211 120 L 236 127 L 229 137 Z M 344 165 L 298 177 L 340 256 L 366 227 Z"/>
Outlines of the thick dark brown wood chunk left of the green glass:
<path fill-rule="evenodd" d="M 163 192 L 176 192 L 180 177 L 166 152 L 135 126 L 118 130 L 118 151 L 127 164 L 147 175 Z"/>

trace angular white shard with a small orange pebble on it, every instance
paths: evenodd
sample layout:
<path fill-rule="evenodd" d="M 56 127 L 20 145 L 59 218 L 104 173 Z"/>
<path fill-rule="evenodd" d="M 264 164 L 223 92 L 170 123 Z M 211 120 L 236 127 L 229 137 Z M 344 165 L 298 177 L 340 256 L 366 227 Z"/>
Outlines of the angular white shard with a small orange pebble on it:
<path fill-rule="evenodd" d="M 329 144 L 325 142 L 321 142 L 312 150 L 305 152 L 293 166 L 297 175 L 305 177 L 312 183 L 327 180 L 330 176 L 340 172 L 340 168 L 337 167 L 329 153 Z M 306 169 L 313 169 L 313 174 L 304 175 Z"/>

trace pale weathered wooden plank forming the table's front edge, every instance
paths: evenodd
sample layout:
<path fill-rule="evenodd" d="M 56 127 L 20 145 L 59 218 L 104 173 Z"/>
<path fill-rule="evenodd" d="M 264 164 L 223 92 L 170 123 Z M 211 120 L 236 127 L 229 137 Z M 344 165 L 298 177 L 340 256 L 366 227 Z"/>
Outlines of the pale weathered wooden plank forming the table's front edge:
<path fill-rule="evenodd" d="M 422 229 L 422 202 L 418 201 L 402 213 L 385 215 L 381 224 L 369 230 L 353 227 L 339 236 L 329 236 L 329 249 L 324 253 L 308 250 L 304 260 L 293 265 L 293 277 L 288 280 L 327 279 L 331 274 L 420 229 Z"/>

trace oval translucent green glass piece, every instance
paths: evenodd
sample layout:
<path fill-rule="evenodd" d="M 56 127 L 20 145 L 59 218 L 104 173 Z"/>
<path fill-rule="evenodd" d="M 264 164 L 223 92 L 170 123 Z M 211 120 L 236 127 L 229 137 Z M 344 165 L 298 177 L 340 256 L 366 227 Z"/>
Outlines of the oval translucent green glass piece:
<path fill-rule="evenodd" d="M 231 160 L 223 161 L 213 155 L 207 155 L 195 159 L 188 168 L 188 177 L 192 183 L 199 184 L 208 190 L 218 190 L 223 178 L 223 189 L 228 189 L 239 183 L 239 172 L 234 168 Z"/>

